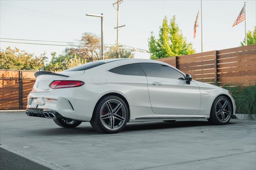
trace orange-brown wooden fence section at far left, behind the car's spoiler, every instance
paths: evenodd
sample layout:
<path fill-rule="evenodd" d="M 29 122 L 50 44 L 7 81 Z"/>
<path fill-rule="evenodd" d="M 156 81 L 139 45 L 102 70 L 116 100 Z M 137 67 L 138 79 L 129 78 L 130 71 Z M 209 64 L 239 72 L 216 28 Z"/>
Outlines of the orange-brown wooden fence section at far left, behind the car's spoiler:
<path fill-rule="evenodd" d="M 0 70 L 0 109 L 26 109 L 36 71 Z"/>

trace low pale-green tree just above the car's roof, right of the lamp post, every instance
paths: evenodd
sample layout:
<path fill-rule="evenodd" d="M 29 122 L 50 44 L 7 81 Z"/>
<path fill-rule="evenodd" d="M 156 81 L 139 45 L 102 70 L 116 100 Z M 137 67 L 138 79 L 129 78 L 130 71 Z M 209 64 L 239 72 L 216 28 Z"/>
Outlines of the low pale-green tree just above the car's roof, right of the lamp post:
<path fill-rule="evenodd" d="M 132 51 L 129 49 L 118 47 L 118 45 L 113 45 L 110 47 L 109 51 L 105 53 L 104 59 L 117 58 L 134 58 L 134 54 L 132 54 Z"/>

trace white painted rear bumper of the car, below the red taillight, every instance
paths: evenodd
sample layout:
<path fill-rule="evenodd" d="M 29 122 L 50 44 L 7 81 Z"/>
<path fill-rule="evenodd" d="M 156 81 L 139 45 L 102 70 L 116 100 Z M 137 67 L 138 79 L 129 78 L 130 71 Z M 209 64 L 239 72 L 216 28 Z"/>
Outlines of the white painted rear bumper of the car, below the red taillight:
<path fill-rule="evenodd" d="M 90 121 L 100 95 L 88 92 L 82 87 L 54 89 L 51 92 L 34 92 L 28 95 L 27 108 L 35 107 L 31 104 L 33 98 L 41 98 L 43 102 L 36 106 L 37 109 L 53 110 L 69 119 Z M 55 100 L 48 100 L 48 98 Z M 35 113 L 37 114 L 37 112 Z"/>

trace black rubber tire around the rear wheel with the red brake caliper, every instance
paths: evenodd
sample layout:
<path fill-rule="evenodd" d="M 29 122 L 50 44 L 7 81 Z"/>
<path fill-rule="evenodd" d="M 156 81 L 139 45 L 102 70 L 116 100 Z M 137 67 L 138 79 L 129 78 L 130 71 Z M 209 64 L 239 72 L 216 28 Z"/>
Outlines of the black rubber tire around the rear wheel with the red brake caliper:
<path fill-rule="evenodd" d="M 101 119 L 101 117 L 103 116 L 103 115 L 101 115 L 101 114 L 103 114 L 103 113 L 101 113 L 101 111 L 104 109 L 106 110 L 106 108 L 109 108 L 106 104 L 108 101 L 110 101 L 110 109 L 113 109 L 113 110 L 114 110 L 114 107 L 116 107 L 116 106 L 114 106 L 114 104 L 111 103 L 111 101 L 118 101 L 118 102 L 122 103 L 122 105 L 120 105 L 120 109 L 119 109 L 120 112 L 122 112 L 122 113 L 114 113 L 114 112 L 112 113 L 112 111 L 110 111 L 110 113 L 112 113 L 112 114 L 110 114 L 110 113 L 104 112 L 105 115 L 108 115 L 108 114 L 110 114 L 110 115 L 106 116 L 106 118 L 103 121 Z M 108 110 L 106 110 L 106 111 L 109 112 Z M 122 119 L 123 121 L 117 120 L 116 119 L 117 116 L 115 116 L 115 114 L 122 114 L 121 117 L 123 118 Z M 125 114 L 125 117 L 123 114 Z M 113 116 L 113 117 L 110 118 L 111 116 Z M 118 133 L 118 132 L 122 131 L 122 129 L 124 129 L 124 127 L 128 121 L 128 117 L 129 117 L 129 110 L 128 110 L 128 107 L 127 107 L 126 103 L 124 102 L 124 100 L 122 100 L 118 96 L 106 96 L 106 97 L 102 98 L 101 100 L 99 100 L 98 103 L 96 104 L 90 124 L 96 131 L 99 131 L 101 133 Z M 114 120 L 113 128 L 112 128 L 111 124 L 110 124 L 111 127 L 107 127 L 108 122 L 106 123 L 106 121 L 109 121 L 109 123 L 110 123 L 110 121 L 112 122 L 112 120 Z M 116 122 L 115 122 L 115 120 L 116 120 Z M 118 121 L 119 121 L 119 124 L 118 124 Z M 118 129 L 115 129 L 115 123 L 117 124 L 116 126 L 118 126 L 118 127 L 116 127 L 116 128 L 118 128 Z"/>

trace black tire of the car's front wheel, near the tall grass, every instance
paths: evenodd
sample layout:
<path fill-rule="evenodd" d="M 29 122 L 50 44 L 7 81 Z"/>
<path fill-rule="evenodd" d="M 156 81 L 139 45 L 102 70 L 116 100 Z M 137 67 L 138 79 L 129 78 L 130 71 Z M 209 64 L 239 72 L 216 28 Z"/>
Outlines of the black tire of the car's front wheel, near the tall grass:
<path fill-rule="evenodd" d="M 223 110 L 223 109 L 220 109 L 221 107 L 220 106 L 222 106 L 222 105 L 218 105 L 218 101 L 221 101 L 221 100 L 223 100 L 223 101 L 228 101 L 229 102 L 229 104 L 230 104 L 230 107 L 228 107 L 228 104 L 227 104 L 227 106 L 225 107 L 225 108 L 229 108 L 230 110 L 229 110 L 229 112 L 230 113 L 226 113 L 226 111 L 224 111 L 224 113 L 223 113 L 223 115 L 224 115 L 224 119 L 222 119 L 222 113 L 216 113 L 216 112 L 218 112 L 218 111 L 220 111 L 220 110 Z M 216 105 L 218 105 L 218 106 L 216 106 Z M 218 111 L 216 111 L 216 108 L 218 107 Z M 226 110 L 226 109 L 224 109 L 224 110 Z M 216 115 L 216 114 L 218 114 L 218 116 Z M 210 112 L 210 118 L 208 119 L 208 121 L 211 123 L 211 124 L 213 124 L 213 125 L 226 125 L 229 121 L 230 121 L 230 119 L 232 118 L 232 116 L 233 116 L 233 107 L 232 107 L 232 102 L 230 101 L 230 99 L 229 98 L 227 98 L 226 96 L 218 96 L 215 100 L 214 100 L 214 102 L 213 102 L 213 104 L 212 104 L 212 108 L 211 108 L 211 112 Z M 222 120 L 221 120 L 222 119 Z M 224 121 L 223 121 L 224 120 Z"/>

